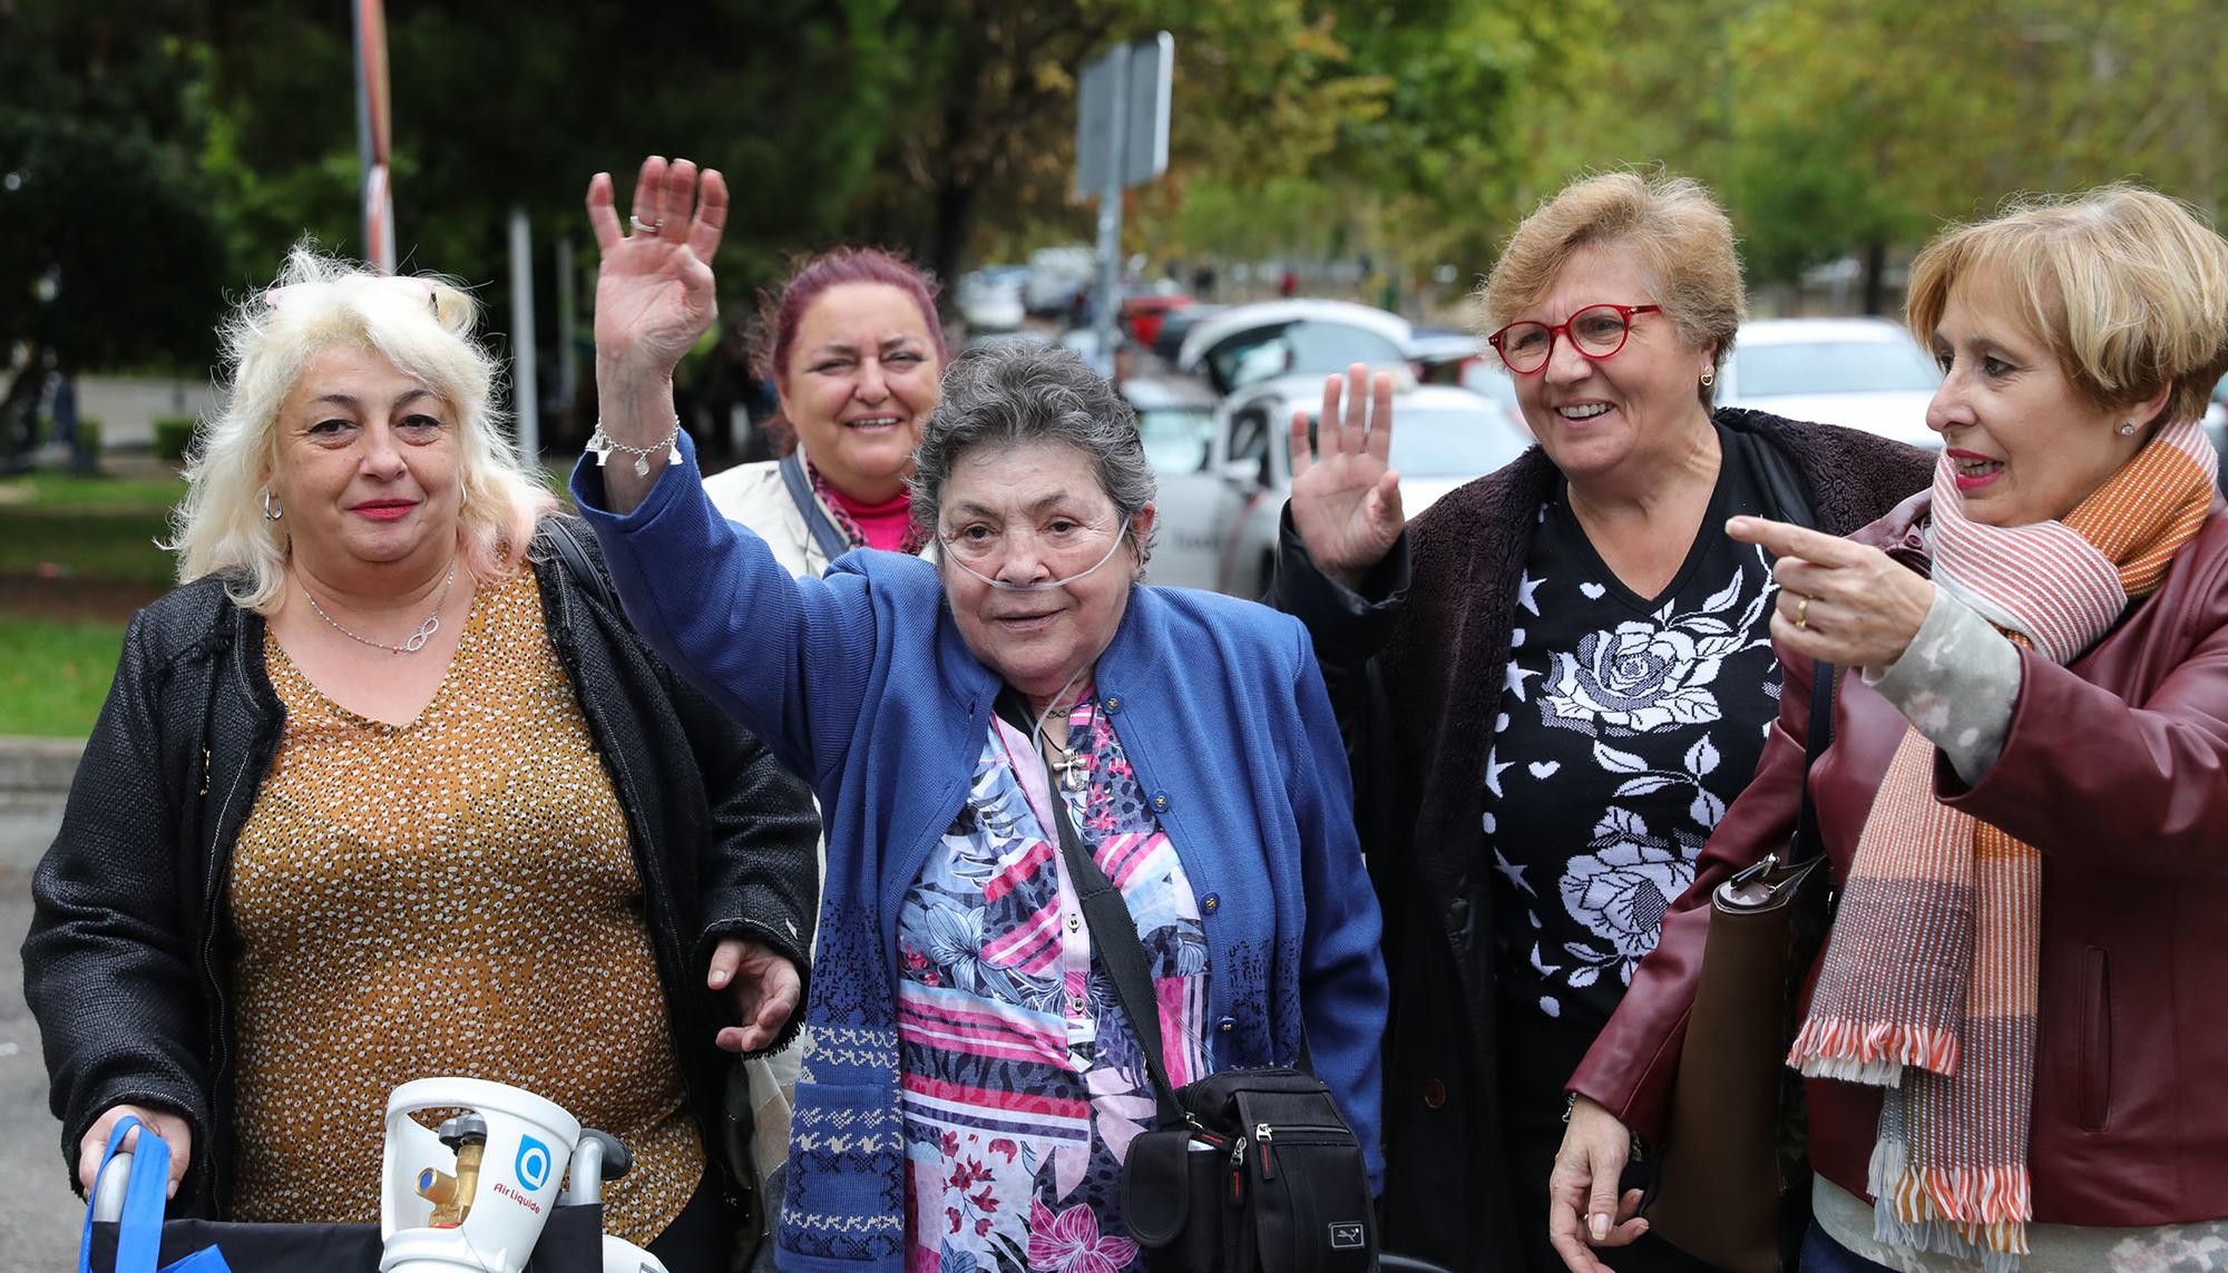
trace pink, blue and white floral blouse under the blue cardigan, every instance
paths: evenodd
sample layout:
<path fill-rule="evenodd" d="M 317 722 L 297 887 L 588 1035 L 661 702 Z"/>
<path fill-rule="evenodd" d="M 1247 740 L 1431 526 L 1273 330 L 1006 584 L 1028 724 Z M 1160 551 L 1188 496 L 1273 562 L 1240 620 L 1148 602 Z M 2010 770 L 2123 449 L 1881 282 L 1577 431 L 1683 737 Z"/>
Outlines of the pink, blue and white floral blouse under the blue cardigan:
<path fill-rule="evenodd" d="M 1152 1079 L 1092 966 L 1047 799 L 1136 917 L 1170 1082 L 1208 1073 L 1192 886 L 1092 694 L 1069 741 L 1076 777 L 1049 792 L 1029 739 L 994 719 L 967 806 L 898 910 L 909 1271 L 1143 1266 L 1121 1159 L 1154 1122 Z"/>

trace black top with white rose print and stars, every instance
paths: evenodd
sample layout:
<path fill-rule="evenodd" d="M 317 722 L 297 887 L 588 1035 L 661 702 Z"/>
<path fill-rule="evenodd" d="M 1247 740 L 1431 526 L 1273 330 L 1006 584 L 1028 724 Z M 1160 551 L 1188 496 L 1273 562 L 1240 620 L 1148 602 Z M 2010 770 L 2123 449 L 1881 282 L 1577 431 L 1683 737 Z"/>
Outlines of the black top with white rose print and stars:
<path fill-rule="evenodd" d="M 1776 512 L 1749 452 L 1769 443 L 1718 438 L 1709 512 L 1660 596 L 1633 594 L 1602 563 L 1569 490 L 1540 510 L 1524 563 L 1486 757 L 1484 850 L 1504 1022 L 1537 1022 L 1577 1048 L 1551 1062 L 1560 1075 L 1655 948 L 1664 908 L 1693 881 L 1778 714 L 1771 565 L 1722 530 L 1727 516 Z"/>

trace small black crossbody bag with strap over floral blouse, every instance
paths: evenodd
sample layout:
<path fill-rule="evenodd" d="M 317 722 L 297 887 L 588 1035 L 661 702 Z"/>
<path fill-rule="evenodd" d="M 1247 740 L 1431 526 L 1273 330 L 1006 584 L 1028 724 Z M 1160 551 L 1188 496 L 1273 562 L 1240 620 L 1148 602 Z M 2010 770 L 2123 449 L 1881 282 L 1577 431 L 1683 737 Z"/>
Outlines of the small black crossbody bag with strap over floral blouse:
<path fill-rule="evenodd" d="M 1034 739 L 1027 710 L 998 714 Z M 1061 857 L 1092 926 L 1098 966 L 1136 1030 L 1159 1102 L 1156 1131 L 1130 1142 L 1121 1208 L 1154 1273 L 1368 1273 L 1377 1215 L 1361 1139 L 1330 1088 L 1294 1068 L 1223 1070 L 1176 1088 L 1161 1062 L 1161 1008 L 1121 890 L 1083 848 L 1045 763 Z M 1301 1066 L 1306 1066 L 1301 1048 Z"/>

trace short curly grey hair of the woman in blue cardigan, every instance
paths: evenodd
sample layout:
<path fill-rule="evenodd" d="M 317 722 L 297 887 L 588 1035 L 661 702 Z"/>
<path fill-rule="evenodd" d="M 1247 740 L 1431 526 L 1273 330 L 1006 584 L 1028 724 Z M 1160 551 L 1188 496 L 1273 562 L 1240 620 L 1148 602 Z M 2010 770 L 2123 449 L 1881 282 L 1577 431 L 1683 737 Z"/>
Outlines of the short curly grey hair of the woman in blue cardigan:
<path fill-rule="evenodd" d="M 942 401 L 913 452 L 913 521 L 936 534 L 945 481 L 967 452 L 1023 443 L 1076 447 L 1092 461 L 1098 490 L 1125 521 L 1152 503 L 1159 485 L 1136 434 L 1136 412 L 1105 376 L 1072 349 L 1003 341 L 967 349 L 945 372 Z M 1152 556 L 1152 539 L 1130 525 L 1139 563 Z"/>

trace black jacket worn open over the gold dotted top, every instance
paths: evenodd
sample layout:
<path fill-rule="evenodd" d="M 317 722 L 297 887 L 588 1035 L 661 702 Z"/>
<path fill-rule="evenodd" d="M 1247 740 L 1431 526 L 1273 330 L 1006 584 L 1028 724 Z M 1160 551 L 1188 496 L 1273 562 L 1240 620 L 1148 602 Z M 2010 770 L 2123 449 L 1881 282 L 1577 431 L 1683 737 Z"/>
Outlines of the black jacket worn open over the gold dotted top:
<path fill-rule="evenodd" d="M 820 819 L 811 790 L 682 685 L 564 565 L 550 534 L 546 521 L 530 554 L 541 614 L 626 815 L 675 1055 L 713 1148 L 731 1057 L 713 1044 L 726 1008 L 704 990 L 711 948 L 753 937 L 807 966 Z M 575 539 L 595 552 L 590 534 Z M 71 1184 L 78 1139 L 102 1111 L 176 1111 L 194 1128 L 194 1155 L 174 1215 L 229 1208 L 225 886 L 285 719 L 263 636 L 263 619 L 216 576 L 131 616 L 62 830 L 31 877 L 25 999 Z"/>

